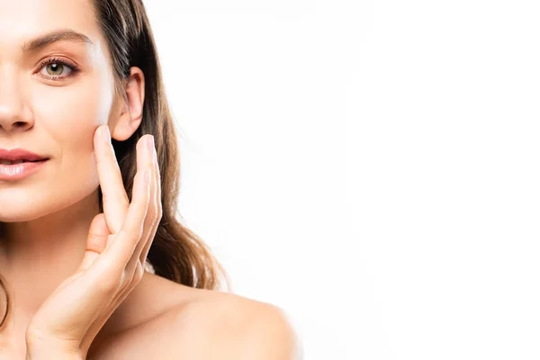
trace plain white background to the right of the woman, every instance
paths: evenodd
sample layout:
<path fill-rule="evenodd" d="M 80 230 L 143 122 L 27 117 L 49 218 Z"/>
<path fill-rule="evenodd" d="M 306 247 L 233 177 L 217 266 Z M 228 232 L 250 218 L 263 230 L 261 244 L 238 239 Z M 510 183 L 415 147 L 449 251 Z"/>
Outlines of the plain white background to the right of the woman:
<path fill-rule="evenodd" d="M 534 1 L 148 1 L 180 211 L 305 359 L 540 357 Z"/>

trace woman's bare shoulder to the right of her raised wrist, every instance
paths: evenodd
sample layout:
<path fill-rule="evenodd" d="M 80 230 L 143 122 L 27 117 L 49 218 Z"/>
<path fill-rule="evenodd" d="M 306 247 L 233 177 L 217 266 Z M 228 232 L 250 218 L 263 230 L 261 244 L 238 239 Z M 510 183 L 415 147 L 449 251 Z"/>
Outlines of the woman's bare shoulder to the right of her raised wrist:
<path fill-rule="evenodd" d="M 158 305 L 164 311 L 109 341 L 96 359 L 301 358 L 298 338 L 281 308 L 234 293 L 157 282 L 157 293 L 174 300 Z M 140 306 L 145 306 L 142 302 L 149 303 L 140 301 Z"/>

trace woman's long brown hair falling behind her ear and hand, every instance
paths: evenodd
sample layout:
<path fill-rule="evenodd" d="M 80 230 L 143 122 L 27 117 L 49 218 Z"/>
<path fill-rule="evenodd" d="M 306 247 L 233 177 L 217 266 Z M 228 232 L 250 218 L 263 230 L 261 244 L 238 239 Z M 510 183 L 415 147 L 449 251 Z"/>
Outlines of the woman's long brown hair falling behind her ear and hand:
<path fill-rule="evenodd" d="M 162 218 L 148 251 L 148 262 L 158 276 L 194 288 L 222 290 L 220 275 L 231 290 L 229 276 L 220 263 L 193 231 L 178 220 L 177 199 L 180 186 L 180 157 L 175 122 L 166 99 L 157 57 L 156 43 L 141 0 L 92 0 L 94 16 L 107 43 L 112 59 L 115 91 L 127 100 L 123 81 L 130 76 L 130 67 L 139 67 L 145 76 L 145 99 L 142 121 L 130 139 L 112 139 L 123 184 L 131 200 L 133 179 L 137 171 L 137 141 L 145 134 L 154 136 L 161 174 Z M 103 212 L 101 187 L 99 206 Z M 176 218 L 178 215 L 179 218 Z M 0 285 L 5 290 L 4 280 Z M 6 293 L 6 311 L 11 306 Z"/>

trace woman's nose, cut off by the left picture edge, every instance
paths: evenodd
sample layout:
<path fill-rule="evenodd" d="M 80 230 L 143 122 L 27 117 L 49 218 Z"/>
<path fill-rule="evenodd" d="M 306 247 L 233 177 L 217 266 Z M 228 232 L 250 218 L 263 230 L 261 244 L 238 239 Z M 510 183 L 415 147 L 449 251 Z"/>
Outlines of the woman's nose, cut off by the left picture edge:
<path fill-rule="evenodd" d="M 33 125 L 25 112 L 23 90 L 19 72 L 0 67 L 0 132 L 28 130 Z"/>

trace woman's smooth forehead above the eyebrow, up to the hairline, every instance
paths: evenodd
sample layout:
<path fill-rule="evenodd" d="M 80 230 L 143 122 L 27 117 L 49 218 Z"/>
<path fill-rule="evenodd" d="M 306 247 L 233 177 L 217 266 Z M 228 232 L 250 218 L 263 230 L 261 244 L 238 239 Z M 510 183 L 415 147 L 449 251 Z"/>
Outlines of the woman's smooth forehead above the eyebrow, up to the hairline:
<path fill-rule="evenodd" d="M 92 0 L 0 0 L 0 50 L 21 51 L 26 41 L 60 29 L 103 43 Z"/>

